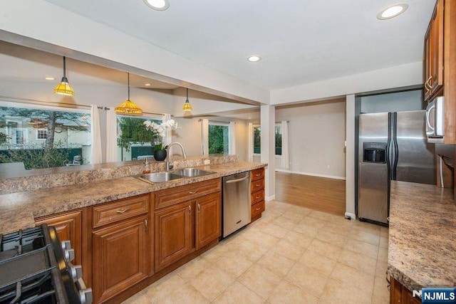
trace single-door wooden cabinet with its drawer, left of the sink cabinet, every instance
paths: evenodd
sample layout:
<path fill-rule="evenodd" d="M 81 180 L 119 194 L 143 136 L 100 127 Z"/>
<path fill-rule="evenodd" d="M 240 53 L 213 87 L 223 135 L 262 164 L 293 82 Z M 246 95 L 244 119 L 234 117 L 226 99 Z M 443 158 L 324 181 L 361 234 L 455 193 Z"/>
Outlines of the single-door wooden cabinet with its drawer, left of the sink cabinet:
<path fill-rule="evenodd" d="M 94 206 L 93 296 L 103 303 L 152 274 L 149 195 Z"/>

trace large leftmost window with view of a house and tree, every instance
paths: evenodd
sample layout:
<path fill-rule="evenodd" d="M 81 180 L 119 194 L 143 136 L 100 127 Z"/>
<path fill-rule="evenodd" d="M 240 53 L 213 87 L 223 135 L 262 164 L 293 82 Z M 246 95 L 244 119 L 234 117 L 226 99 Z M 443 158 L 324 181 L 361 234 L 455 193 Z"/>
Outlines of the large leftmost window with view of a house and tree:
<path fill-rule="evenodd" d="M 0 106 L 0 163 L 23 162 L 26 169 L 88 164 L 90 145 L 87 112 Z"/>

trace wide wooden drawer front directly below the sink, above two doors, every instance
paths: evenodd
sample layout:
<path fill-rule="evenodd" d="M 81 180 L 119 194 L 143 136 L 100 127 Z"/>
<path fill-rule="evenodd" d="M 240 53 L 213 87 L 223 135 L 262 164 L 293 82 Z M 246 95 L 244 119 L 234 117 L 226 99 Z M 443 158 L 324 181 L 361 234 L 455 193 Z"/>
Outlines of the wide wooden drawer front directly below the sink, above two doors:
<path fill-rule="evenodd" d="M 221 179 L 209 179 L 204 182 L 160 190 L 152 193 L 155 210 L 171 206 L 182 201 L 195 199 L 222 190 Z"/>

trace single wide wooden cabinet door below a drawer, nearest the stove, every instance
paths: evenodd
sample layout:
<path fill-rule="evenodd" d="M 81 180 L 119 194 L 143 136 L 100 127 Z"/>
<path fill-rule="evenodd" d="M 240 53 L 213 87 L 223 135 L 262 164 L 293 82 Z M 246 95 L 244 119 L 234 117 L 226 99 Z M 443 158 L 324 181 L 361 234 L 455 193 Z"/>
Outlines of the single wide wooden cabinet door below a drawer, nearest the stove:
<path fill-rule="evenodd" d="M 148 217 L 93 232 L 94 303 L 102 303 L 149 276 Z"/>

